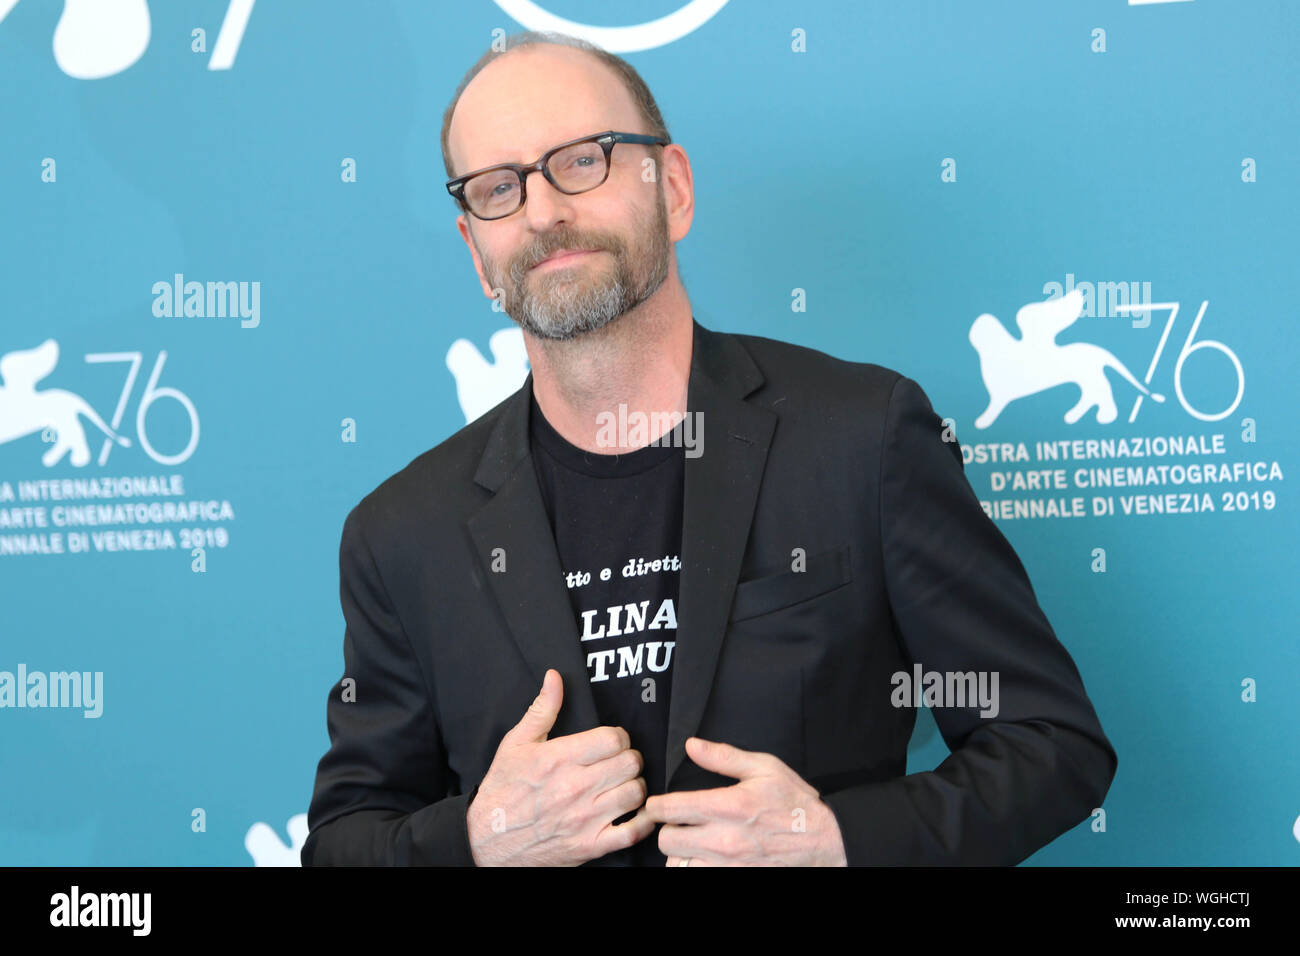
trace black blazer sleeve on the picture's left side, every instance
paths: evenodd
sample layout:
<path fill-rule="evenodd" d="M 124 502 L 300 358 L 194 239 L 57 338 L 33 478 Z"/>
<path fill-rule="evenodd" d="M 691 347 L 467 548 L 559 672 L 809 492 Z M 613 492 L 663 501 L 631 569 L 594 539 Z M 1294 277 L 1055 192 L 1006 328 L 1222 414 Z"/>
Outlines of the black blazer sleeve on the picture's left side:
<path fill-rule="evenodd" d="M 364 502 L 363 502 L 364 505 Z M 326 704 L 329 750 L 316 770 L 304 866 L 473 866 L 465 813 L 448 796 L 430 689 L 354 509 L 339 545 L 343 678 Z M 344 700 L 343 680 L 355 682 Z"/>

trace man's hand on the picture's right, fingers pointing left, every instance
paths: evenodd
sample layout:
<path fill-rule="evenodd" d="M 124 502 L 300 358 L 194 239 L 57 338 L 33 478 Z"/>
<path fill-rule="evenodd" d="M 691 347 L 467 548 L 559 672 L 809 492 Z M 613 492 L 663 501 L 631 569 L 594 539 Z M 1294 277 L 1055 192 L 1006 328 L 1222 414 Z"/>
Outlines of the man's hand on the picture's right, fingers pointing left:
<path fill-rule="evenodd" d="M 668 866 L 848 866 L 835 813 L 780 757 L 699 737 L 686 756 L 740 783 L 646 800 Z"/>

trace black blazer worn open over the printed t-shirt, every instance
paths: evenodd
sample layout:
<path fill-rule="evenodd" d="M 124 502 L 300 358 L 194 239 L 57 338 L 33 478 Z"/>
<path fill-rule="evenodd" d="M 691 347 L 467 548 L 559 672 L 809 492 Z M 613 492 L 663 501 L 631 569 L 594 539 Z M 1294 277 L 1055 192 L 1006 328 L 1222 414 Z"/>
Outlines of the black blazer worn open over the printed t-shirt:
<path fill-rule="evenodd" d="M 355 701 L 330 689 L 304 865 L 473 865 L 465 809 L 547 667 L 564 678 L 550 736 L 601 723 L 530 393 L 532 373 L 343 524 Z M 685 466 L 670 791 L 734 783 L 686 758 L 688 736 L 774 753 L 835 812 L 850 865 L 1015 864 L 1101 805 L 1115 752 L 914 381 L 696 321 L 688 408 L 703 447 Z M 915 710 L 892 675 L 913 662 L 997 671 L 1000 713 L 936 708 L 952 753 L 905 775 Z"/>

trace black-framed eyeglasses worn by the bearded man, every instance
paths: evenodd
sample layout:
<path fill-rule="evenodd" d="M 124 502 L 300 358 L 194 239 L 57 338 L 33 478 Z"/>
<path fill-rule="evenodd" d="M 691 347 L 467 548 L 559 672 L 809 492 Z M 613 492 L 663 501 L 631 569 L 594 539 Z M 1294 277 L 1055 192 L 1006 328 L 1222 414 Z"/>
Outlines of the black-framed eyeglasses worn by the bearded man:
<path fill-rule="evenodd" d="M 610 152 L 615 143 L 668 146 L 671 140 L 640 133 L 606 130 L 547 150 L 537 163 L 499 163 L 447 179 L 447 193 L 476 219 L 504 219 L 528 202 L 528 174 L 540 172 L 560 193 L 577 195 L 610 178 Z"/>

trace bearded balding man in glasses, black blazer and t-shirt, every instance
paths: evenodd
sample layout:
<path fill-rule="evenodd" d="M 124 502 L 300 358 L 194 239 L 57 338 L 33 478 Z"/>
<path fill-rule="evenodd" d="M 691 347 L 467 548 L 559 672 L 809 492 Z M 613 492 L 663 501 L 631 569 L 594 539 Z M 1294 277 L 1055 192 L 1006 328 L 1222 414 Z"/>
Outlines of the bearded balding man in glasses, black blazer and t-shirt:
<path fill-rule="evenodd" d="M 304 864 L 1014 864 L 1100 805 L 1114 750 L 920 388 L 694 320 L 630 66 L 511 38 L 443 159 L 532 372 L 344 523 Z M 971 695 L 927 685 L 953 753 L 906 775 L 922 670 Z"/>

